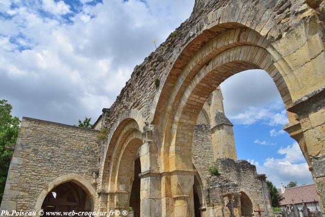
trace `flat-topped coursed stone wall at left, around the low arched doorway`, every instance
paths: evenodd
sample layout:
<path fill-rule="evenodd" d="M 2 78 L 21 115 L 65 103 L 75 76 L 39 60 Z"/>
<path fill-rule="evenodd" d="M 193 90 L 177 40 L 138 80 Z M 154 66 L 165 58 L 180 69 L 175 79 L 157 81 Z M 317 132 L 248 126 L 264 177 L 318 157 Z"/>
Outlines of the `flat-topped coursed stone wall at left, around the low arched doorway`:
<path fill-rule="evenodd" d="M 52 189 L 48 184 L 64 175 L 84 185 L 78 177 L 92 183 L 98 170 L 96 134 L 96 130 L 23 117 L 0 209 L 34 210 L 43 190 Z"/>

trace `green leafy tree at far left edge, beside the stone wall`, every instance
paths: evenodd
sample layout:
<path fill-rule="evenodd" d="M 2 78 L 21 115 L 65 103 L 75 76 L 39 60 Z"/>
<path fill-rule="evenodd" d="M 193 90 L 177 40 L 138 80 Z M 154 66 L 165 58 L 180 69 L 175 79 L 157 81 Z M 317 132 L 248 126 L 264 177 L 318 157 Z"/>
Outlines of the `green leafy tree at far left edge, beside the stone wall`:
<path fill-rule="evenodd" d="M 7 100 L 0 100 L 0 202 L 5 190 L 8 170 L 13 151 L 6 146 L 16 144 L 20 120 L 11 115 L 12 106 Z"/>

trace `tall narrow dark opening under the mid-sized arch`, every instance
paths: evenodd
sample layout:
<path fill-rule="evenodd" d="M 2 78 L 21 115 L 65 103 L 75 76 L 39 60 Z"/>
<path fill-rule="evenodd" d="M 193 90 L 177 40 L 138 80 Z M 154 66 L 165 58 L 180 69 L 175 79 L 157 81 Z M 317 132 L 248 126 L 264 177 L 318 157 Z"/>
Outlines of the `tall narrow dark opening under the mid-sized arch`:
<path fill-rule="evenodd" d="M 140 157 L 137 154 L 137 157 L 134 162 L 134 179 L 132 183 L 129 207 L 130 212 L 133 212 L 133 217 L 140 217 L 140 177 L 139 174 L 141 173 L 141 162 Z"/>

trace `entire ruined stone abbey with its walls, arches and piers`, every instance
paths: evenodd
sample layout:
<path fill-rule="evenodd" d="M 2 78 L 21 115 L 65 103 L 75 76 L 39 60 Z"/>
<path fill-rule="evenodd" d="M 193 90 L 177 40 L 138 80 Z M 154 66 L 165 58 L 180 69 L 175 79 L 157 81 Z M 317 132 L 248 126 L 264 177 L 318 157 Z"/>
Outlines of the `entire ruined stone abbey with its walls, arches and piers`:
<path fill-rule="evenodd" d="M 191 16 L 135 67 L 94 130 L 23 118 L 1 209 L 39 210 L 55 187 L 69 183 L 87 194 L 79 201 L 91 210 L 131 205 L 142 216 L 194 216 L 199 201 L 206 216 L 226 204 L 235 204 L 237 215 L 251 213 L 247 207 L 261 203 L 265 177 L 237 161 L 221 92 L 213 91 L 233 74 L 264 69 L 324 211 L 324 6 L 320 0 L 197 0 Z M 99 141 L 103 127 L 108 136 Z M 206 167 L 214 160 L 221 175 L 209 178 Z M 251 188 L 260 180 L 262 189 L 248 192 L 242 173 L 254 180 Z"/>

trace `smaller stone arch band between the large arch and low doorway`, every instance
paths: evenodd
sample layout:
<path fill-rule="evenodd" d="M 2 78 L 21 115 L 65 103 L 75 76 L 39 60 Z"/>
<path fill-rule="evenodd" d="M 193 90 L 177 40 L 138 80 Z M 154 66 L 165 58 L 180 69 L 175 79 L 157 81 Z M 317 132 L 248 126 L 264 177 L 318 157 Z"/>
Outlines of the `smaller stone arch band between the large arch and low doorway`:
<path fill-rule="evenodd" d="M 141 134 L 144 132 L 146 123 L 141 113 L 136 109 L 124 112 L 117 118 L 117 121 L 110 128 L 107 136 L 107 145 L 104 154 L 104 159 L 99 172 L 99 189 L 103 192 L 108 192 L 109 185 L 109 170 L 110 160 L 112 159 L 114 149 L 117 147 L 118 140 L 125 139 L 127 135 L 134 131 Z"/>

